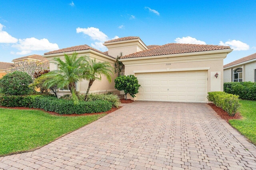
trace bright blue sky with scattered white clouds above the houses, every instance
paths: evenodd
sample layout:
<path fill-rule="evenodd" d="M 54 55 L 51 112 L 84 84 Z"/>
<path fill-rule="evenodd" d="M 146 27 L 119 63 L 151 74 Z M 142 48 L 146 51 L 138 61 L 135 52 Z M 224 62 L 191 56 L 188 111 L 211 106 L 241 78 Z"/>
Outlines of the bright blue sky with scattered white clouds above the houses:
<path fill-rule="evenodd" d="M 139 36 L 146 45 L 199 43 L 256 53 L 255 0 L 0 0 L 0 61 Z"/>

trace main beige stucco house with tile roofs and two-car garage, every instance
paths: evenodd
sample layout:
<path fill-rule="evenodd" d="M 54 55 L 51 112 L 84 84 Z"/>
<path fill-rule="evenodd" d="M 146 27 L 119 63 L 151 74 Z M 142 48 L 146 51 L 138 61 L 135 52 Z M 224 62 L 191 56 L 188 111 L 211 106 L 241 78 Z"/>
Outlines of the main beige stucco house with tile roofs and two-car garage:
<path fill-rule="evenodd" d="M 232 51 L 228 46 L 170 43 L 145 45 L 140 37 L 122 37 L 106 41 L 107 52 L 88 45 L 80 45 L 45 53 L 50 61 L 50 70 L 58 69 L 54 57 L 64 59 L 64 54 L 78 53 L 97 61 L 113 64 L 122 52 L 120 61 L 125 65 L 125 75 L 134 75 L 141 85 L 133 100 L 201 102 L 206 103 L 207 92 L 223 91 L 223 59 Z M 218 73 L 218 77 L 215 75 Z M 114 78 L 95 82 L 91 93 L 120 92 L 114 89 Z M 77 90 L 85 93 L 88 81 L 77 84 Z M 64 94 L 65 92 L 62 92 Z"/>

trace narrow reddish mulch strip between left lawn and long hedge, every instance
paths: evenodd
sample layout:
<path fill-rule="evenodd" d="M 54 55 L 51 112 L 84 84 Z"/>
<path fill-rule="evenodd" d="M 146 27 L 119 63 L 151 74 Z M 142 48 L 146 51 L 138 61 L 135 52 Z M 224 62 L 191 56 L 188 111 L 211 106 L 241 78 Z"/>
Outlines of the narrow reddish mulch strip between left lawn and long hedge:
<path fill-rule="evenodd" d="M 60 113 L 56 113 L 56 112 L 53 112 L 53 111 L 45 111 L 44 109 L 35 109 L 35 108 L 29 108 L 29 107 L 5 107 L 5 106 L 0 106 L 0 108 L 5 108 L 5 109 L 22 109 L 22 110 L 41 110 L 41 111 L 44 111 L 44 112 L 47 112 L 49 113 L 50 115 L 57 115 L 57 116 L 86 116 L 86 115 L 100 115 L 100 114 L 103 114 L 103 113 L 106 113 L 106 114 L 109 114 L 109 113 L 112 113 L 113 111 L 116 111 L 117 109 L 120 109 L 122 106 L 120 106 L 119 108 L 116 108 L 116 107 L 112 107 L 112 109 L 110 109 L 109 111 L 106 111 L 106 112 L 99 112 L 99 113 L 84 113 L 84 114 L 66 114 L 66 115 L 62 115 Z"/>

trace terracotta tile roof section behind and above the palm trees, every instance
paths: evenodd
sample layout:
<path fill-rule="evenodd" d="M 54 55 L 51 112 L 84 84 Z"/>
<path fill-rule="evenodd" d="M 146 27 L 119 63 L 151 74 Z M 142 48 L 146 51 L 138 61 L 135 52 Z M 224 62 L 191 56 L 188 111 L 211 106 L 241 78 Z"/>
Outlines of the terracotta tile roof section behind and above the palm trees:
<path fill-rule="evenodd" d="M 108 55 L 108 54 L 106 54 L 106 52 L 102 52 L 102 51 L 99 51 L 97 49 L 94 49 L 94 48 L 90 47 L 89 45 L 78 45 L 78 46 L 74 46 L 74 47 L 68 47 L 68 48 L 65 48 L 65 49 L 50 51 L 48 53 L 44 53 L 44 55 L 56 54 L 56 53 L 66 53 L 66 52 L 71 52 L 71 51 L 81 51 L 81 50 L 88 50 L 88 49 L 91 49 L 91 50 L 96 51 L 98 53 L 102 53 L 104 55 Z M 108 56 L 112 57 L 110 55 L 108 55 Z M 112 58 L 114 58 L 114 57 L 112 57 Z"/>

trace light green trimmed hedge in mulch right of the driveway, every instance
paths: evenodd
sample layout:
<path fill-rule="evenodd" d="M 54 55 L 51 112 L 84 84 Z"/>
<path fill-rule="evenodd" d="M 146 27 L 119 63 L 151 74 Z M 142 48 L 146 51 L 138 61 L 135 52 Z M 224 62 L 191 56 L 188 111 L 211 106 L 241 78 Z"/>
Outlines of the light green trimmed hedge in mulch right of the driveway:
<path fill-rule="evenodd" d="M 239 104 L 239 96 L 228 94 L 226 92 L 208 92 L 208 100 L 213 102 L 217 107 L 221 107 L 228 115 L 234 116 Z"/>

